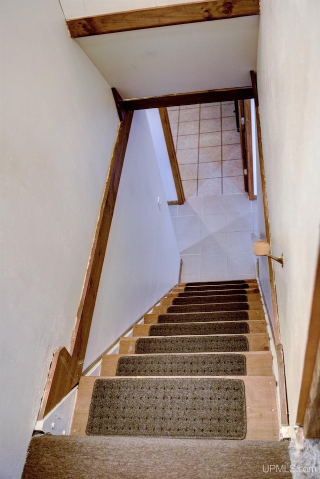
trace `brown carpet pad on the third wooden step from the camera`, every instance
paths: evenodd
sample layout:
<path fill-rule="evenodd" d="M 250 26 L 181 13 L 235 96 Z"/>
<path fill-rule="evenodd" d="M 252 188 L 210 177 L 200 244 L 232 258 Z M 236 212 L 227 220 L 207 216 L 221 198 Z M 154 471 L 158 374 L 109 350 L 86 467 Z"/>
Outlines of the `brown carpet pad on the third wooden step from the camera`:
<path fill-rule="evenodd" d="M 225 353 L 249 351 L 245 336 L 165 336 L 138 338 L 135 354 Z"/>

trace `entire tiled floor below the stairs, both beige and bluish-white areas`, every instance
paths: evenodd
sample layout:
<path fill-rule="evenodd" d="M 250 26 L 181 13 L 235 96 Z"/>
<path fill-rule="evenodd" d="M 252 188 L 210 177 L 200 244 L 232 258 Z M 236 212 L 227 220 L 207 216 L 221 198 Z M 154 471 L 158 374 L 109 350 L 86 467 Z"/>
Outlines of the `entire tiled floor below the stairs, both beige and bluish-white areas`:
<path fill-rule="evenodd" d="M 186 197 L 169 206 L 181 281 L 255 278 L 256 201 L 244 192 L 234 102 L 168 108 Z"/>

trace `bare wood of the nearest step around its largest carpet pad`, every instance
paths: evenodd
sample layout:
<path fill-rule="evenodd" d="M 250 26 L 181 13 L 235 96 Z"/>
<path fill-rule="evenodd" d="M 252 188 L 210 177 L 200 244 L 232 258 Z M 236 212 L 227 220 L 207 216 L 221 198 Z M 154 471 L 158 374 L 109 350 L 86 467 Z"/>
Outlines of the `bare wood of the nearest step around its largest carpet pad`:
<path fill-rule="evenodd" d="M 204 377 L 219 378 L 219 376 Z M 173 378 L 173 376 L 170 376 L 170 378 Z M 278 441 L 279 428 L 274 377 L 225 376 L 223 378 L 241 379 L 244 382 L 246 403 L 245 439 L 252 441 Z M 71 436 L 85 436 L 93 386 L 96 379 L 103 379 L 103 377 L 87 376 L 80 379 Z M 116 379 L 119 378 L 117 377 Z M 123 377 L 122 379 L 125 378 Z"/>

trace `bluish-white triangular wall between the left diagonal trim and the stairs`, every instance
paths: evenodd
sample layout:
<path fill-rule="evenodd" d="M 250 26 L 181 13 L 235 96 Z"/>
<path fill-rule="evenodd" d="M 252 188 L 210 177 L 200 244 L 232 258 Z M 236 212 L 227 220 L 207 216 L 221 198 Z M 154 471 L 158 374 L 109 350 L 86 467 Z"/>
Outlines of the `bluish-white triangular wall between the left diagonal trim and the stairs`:
<path fill-rule="evenodd" d="M 178 282 L 179 266 L 147 116 L 135 111 L 84 369 Z"/>

